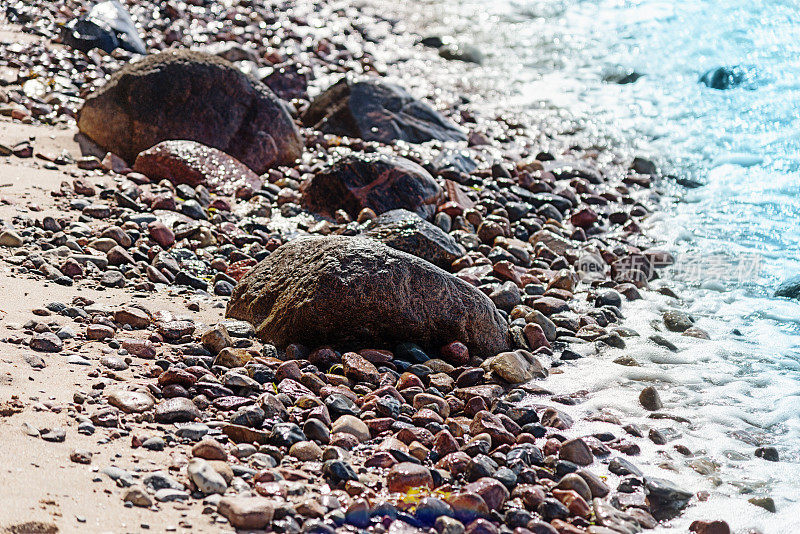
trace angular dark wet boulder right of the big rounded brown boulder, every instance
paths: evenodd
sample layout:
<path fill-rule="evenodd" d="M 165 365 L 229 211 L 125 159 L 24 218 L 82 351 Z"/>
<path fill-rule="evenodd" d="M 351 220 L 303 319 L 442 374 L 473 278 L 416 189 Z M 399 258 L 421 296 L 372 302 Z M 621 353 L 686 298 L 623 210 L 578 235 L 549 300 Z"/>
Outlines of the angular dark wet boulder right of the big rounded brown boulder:
<path fill-rule="evenodd" d="M 400 86 L 344 78 L 319 95 L 303 124 L 323 133 L 391 143 L 465 141 L 466 135 L 428 104 Z"/>

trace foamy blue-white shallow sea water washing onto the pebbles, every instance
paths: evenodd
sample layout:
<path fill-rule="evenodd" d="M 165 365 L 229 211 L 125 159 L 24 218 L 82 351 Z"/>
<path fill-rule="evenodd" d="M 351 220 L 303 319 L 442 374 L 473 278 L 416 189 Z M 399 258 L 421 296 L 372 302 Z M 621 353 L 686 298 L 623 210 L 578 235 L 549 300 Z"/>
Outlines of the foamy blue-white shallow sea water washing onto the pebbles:
<path fill-rule="evenodd" d="M 735 529 L 800 532 L 800 303 L 772 297 L 779 283 L 800 275 L 800 2 L 423 4 L 437 13 L 431 33 L 484 50 L 513 95 L 508 104 L 568 109 L 584 131 L 706 184 L 668 187 L 648 232 L 678 255 L 669 285 L 712 341 L 666 336 L 677 354 L 634 342 L 579 360 L 585 372 L 548 382 L 590 391 L 579 410 L 609 408 L 673 427 L 680 443 L 716 464 L 708 473 L 670 446 L 643 451 L 652 462 L 647 474 L 712 492 L 661 530 L 685 532 L 691 519 L 724 518 Z M 726 65 L 751 67 L 753 79 L 727 91 L 697 83 Z M 635 83 L 603 81 L 634 71 L 644 75 Z M 679 304 L 649 297 L 624 311 L 646 339 L 658 310 Z M 622 353 L 642 366 L 611 363 Z M 636 394 L 649 384 L 662 391 L 668 412 L 691 424 L 647 420 Z M 782 461 L 754 458 L 757 442 L 774 444 Z M 749 504 L 753 496 L 773 497 L 778 513 Z"/>

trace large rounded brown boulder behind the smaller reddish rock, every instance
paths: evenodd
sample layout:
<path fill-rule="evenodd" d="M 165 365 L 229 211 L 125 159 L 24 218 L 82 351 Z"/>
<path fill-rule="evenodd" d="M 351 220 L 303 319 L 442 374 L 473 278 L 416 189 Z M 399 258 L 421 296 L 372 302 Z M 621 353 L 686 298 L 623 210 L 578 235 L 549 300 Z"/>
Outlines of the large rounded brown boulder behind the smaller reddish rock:
<path fill-rule="evenodd" d="M 169 139 L 218 148 L 257 173 L 290 164 L 303 139 L 282 101 L 216 56 L 177 50 L 129 63 L 89 95 L 78 128 L 129 163 Z"/>

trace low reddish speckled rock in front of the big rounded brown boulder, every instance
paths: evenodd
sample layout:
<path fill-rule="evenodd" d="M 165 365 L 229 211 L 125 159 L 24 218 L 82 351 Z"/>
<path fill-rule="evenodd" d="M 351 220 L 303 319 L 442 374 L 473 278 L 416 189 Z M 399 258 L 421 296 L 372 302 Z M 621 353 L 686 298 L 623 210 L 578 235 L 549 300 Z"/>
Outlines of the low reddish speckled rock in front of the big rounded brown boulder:
<path fill-rule="evenodd" d="M 196 141 L 162 141 L 139 153 L 133 170 L 153 181 L 204 185 L 212 192 L 233 194 L 241 185 L 261 189 L 261 180 L 247 165 L 225 152 Z"/>

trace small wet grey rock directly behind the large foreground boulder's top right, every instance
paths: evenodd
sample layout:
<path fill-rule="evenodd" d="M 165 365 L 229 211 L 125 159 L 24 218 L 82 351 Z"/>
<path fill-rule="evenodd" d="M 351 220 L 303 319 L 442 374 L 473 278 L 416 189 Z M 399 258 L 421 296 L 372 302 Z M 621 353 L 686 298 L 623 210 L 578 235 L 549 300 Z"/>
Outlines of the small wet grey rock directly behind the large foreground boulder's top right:
<path fill-rule="evenodd" d="M 365 235 L 445 270 L 466 254 L 453 236 L 408 210 L 387 211 L 373 219 Z"/>

